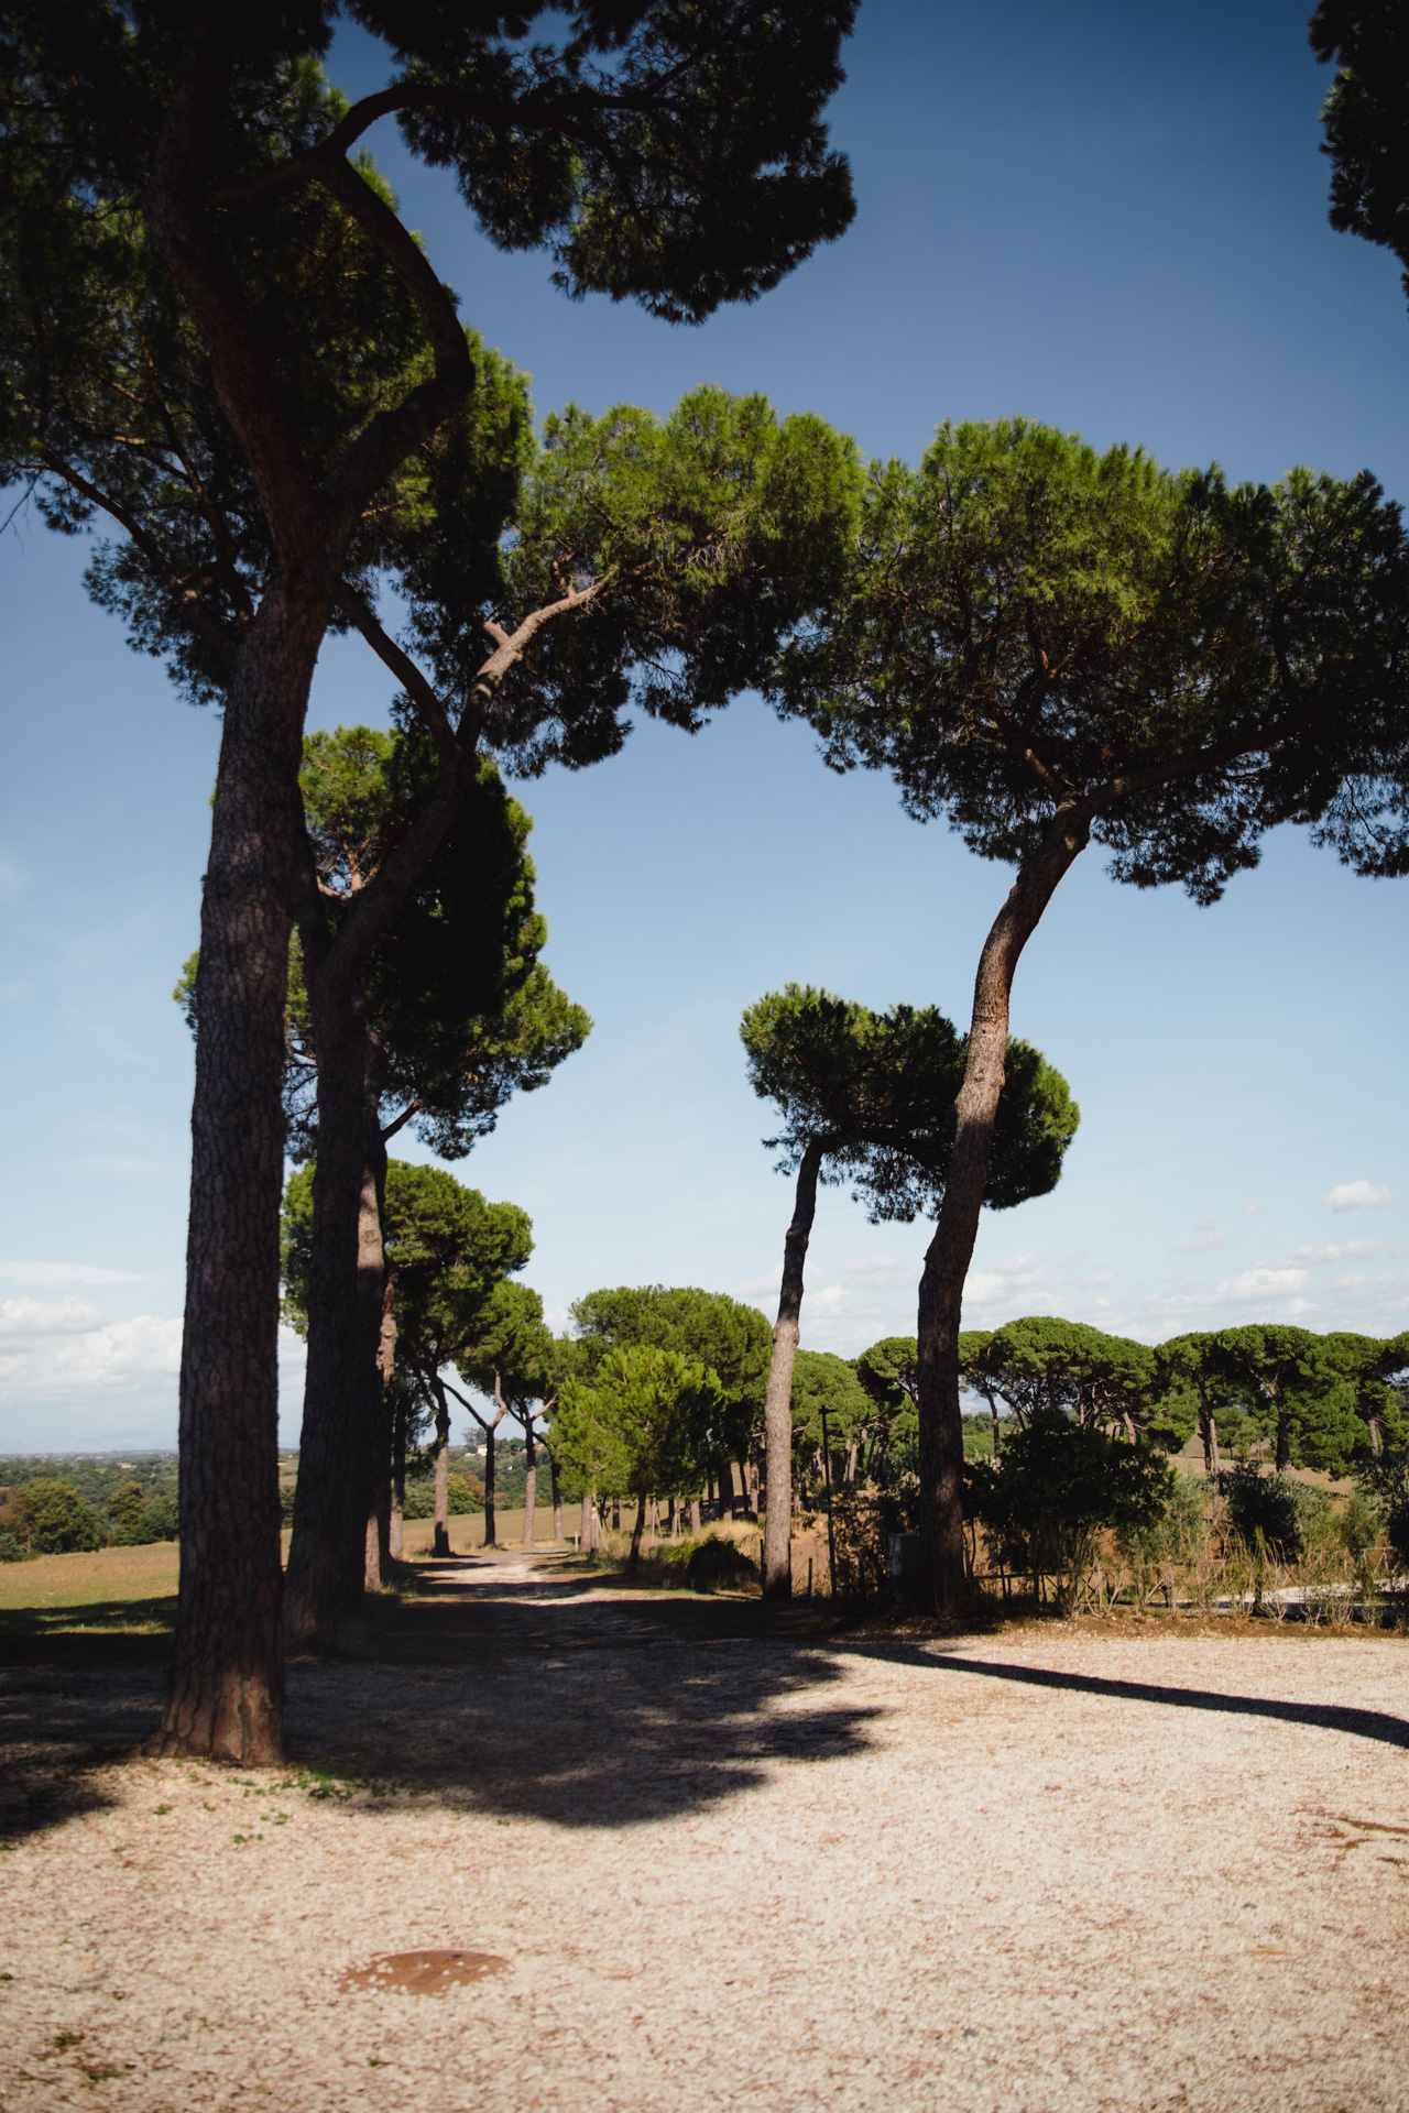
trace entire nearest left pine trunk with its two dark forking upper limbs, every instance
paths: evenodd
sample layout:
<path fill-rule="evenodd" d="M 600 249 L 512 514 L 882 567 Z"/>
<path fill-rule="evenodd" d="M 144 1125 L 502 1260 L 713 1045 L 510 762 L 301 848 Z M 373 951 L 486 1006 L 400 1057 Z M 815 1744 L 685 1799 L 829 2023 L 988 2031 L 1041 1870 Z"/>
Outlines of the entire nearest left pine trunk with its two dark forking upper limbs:
<path fill-rule="evenodd" d="M 321 484 L 311 484 L 300 435 L 289 431 L 207 203 L 226 135 L 234 44 L 228 13 L 188 11 L 146 197 L 154 245 L 201 332 L 273 545 L 270 579 L 226 689 L 201 909 L 180 1411 L 182 1572 L 158 1745 L 253 1766 L 277 1762 L 283 1745 L 281 1073 L 287 942 L 306 847 L 302 723 L 342 554 L 363 507 L 469 395 L 475 376 L 446 287 L 384 201 L 334 156 L 319 167 L 319 180 L 408 285 L 435 353 L 435 376 L 406 404 L 378 412 Z"/>

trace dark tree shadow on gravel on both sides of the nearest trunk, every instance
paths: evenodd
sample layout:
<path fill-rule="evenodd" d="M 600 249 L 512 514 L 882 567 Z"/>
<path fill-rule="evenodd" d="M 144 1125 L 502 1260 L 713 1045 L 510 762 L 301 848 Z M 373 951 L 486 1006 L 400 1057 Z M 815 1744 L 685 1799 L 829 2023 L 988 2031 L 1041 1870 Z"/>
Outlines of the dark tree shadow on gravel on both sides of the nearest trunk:
<path fill-rule="evenodd" d="M 30 1663 L 0 1678 L 0 1836 L 108 1807 L 93 1771 L 154 1735 L 167 1638 L 125 1633 L 131 1614 L 120 1602 L 19 1623 Z M 866 1745 L 877 1712 L 828 1695 L 843 1680 L 830 1631 L 815 1602 L 771 1610 L 509 1566 L 456 1587 L 444 1566 L 414 1595 L 372 1600 L 336 1657 L 289 1665 L 285 1754 L 505 1819 L 668 1819 L 779 1762 Z"/>

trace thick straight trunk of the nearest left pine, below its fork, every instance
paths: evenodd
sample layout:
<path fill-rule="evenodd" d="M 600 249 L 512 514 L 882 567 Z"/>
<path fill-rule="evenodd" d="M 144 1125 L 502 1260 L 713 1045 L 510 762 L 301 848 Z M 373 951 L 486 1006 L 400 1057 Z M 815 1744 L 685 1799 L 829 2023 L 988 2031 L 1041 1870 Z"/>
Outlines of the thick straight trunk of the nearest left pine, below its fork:
<path fill-rule="evenodd" d="M 279 1200 L 302 721 L 325 604 L 275 581 L 226 693 L 201 900 L 180 1392 L 180 1593 L 158 1750 L 283 1747 Z"/>

